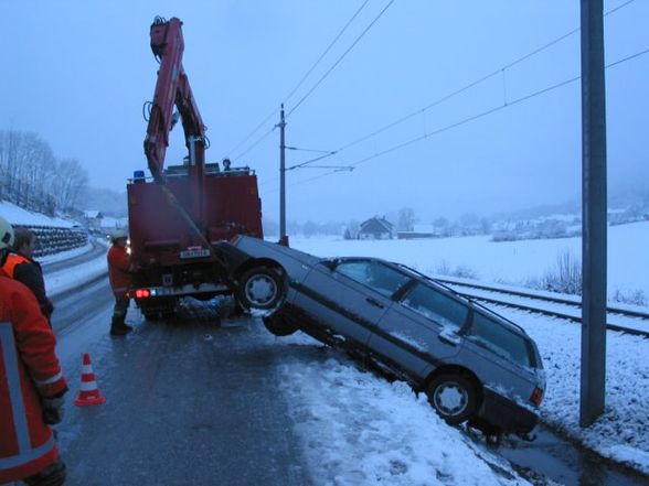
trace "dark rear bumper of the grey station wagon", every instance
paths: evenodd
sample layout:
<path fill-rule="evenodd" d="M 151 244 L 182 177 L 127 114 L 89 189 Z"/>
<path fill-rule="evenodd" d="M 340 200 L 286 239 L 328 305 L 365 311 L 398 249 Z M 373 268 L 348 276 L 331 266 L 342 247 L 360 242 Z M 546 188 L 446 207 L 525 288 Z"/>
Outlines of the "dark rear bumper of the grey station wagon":
<path fill-rule="evenodd" d="M 528 433 L 539 423 L 539 415 L 513 400 L 483 388 L 478 415 L 503 432 Z"/>

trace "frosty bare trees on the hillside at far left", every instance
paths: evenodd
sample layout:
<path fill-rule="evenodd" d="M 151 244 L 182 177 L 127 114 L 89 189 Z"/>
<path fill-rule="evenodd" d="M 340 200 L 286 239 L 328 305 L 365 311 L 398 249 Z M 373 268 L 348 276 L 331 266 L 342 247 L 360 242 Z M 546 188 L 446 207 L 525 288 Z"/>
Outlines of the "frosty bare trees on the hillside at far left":
<path fill-rule="evenodd" d="M 54 216 L 73 213 L 88 190 L 76 159 L 58 159 L 34 132 L 0 130 L 0 199 Z"/>

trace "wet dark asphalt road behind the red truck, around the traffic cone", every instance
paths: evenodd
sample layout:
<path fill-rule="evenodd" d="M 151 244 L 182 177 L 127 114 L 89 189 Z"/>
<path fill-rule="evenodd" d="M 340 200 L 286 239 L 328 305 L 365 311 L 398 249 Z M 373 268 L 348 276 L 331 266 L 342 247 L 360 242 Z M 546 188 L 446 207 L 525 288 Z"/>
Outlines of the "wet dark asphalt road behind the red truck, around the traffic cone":
<path fill-rule="evenodd" d="M 265 331 L 247 320 L 220 324 L 200 307 L 159 324 L 131 310 L 136 331 L 110 338 L 110 305 L 89 301 L 94 312 L 58 333 L 71 381 L 58 439 L 71 485 L 309 484 L 277 393 L 281 356 Z M 85 352 L 107 401 L 77 408 Z"/>

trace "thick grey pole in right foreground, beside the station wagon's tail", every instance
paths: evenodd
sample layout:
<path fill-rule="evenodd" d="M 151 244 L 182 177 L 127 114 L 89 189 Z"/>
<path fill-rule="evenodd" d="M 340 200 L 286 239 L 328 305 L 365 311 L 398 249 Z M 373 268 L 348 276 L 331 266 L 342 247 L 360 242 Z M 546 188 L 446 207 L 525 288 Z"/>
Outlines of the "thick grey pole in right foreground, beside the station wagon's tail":
<path fill-rule="evenodd" d="M 603 412 L 606 377 L 606 85 L 603 0 L 582 0 L 582 388 L 579 425 Z"/>

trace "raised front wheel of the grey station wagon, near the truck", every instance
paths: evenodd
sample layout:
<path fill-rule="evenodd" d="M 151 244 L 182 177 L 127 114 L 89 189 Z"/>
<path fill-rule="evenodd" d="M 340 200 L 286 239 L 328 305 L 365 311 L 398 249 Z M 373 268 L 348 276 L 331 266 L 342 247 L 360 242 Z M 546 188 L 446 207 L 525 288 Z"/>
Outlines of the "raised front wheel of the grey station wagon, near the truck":
<path fill-rule="evenodd" d="M 238 279 L 238 301 L 248 311 L 275 309 L 284 300 L 281 277 L 267 267 L 256 267 Z"/>

